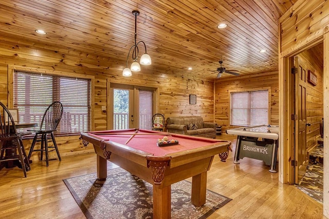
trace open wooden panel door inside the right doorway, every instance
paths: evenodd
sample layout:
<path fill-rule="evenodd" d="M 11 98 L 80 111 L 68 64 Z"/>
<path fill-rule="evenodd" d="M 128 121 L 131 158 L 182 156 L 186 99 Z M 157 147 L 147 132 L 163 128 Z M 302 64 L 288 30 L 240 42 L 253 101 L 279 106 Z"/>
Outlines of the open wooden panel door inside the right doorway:
<path fill-rule="evenodd" d="M 305 64 L 294 57 L 294 65 L 297 68 L 295 74 L 295 160 L 297 166 L 295 170 L 295 183 L 299 183 L 306 172 L 306 67 Z M 295 69 L 296 69 L 295 68 Z"/>

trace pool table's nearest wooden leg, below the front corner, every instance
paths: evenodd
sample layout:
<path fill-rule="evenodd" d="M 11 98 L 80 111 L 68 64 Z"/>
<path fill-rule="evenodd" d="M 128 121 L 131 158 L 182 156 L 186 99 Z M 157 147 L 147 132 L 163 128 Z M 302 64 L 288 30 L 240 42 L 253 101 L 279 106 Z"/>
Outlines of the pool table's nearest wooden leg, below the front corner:
<path fill-rule="evenodd" d="M 171 186 L 153 186 L 153 218 L 171 218 Z"/>

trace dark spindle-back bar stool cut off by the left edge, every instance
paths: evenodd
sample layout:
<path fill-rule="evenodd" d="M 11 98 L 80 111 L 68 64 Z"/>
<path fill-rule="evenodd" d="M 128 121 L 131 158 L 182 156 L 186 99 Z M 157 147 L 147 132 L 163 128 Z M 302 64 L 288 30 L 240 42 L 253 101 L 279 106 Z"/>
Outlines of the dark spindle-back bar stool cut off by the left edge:
<path fill-rule="evenodd" d="M 0 108 L 0 169 L 4 166 L 7 168 L 17 166 L 22 168 L 26 177 L 26 171 L 30 170 L 30 165 L 26 158 L 22 136 L 28 133 L 17 133 L 9 109 L 2 102 L 0 102 Z"/>

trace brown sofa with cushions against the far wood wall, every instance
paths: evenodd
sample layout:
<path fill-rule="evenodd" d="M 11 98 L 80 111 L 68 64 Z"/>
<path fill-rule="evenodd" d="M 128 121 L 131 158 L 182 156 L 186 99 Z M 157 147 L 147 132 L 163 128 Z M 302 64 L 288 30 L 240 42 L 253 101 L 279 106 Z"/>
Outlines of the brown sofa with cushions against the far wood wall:
<path fill-rule="evenodd" d="M 204 122 L 201 116 L 168 117 L 165 122 L 165 132 L 216 138 L 217 124 Z"/>

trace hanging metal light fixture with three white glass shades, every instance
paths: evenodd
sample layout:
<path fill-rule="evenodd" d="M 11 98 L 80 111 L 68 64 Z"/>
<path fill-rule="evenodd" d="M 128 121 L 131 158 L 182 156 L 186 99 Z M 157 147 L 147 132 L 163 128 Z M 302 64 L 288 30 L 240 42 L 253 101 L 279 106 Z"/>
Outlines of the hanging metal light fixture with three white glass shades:
<path fill-rule="evenodd" d="M 125 77 L 132 76 L 132 71 L 140 71 L 140 65 L 137 62 L 138 52 L 139 52 L 139 49 L 138 49 L 138 44 L 139 43 L 144 44 L 144 48 L 145 48 L 145 53 L 140 57 L 140 64 L 142 64 L 142 65 L 151 65 L 151 63 L 152 63 L 151 62 L 151 57 L 149 56 L 149 54 L 146 51 L 145 43 L 143 41 L 139 41 L 138 43 L 136 43 L 136 38 L 137 38 L 137 16 L 139 15 L 139 11 L 134 10 L 132 13 L 135 15 L 135 45 L 133 45 L 129 49 L 127 60 L 126 60 L 126 65 L 125 65 L 125 68 L 122 71 L 122 75 L 125 76 Z M 133 58 L 134 62 L 132 63 L 130 68 L 128 68 L 128 59 L 129 59 L 129 54 L 130 54 L 131 51 L 133 52 L 132 58 Z"/>

